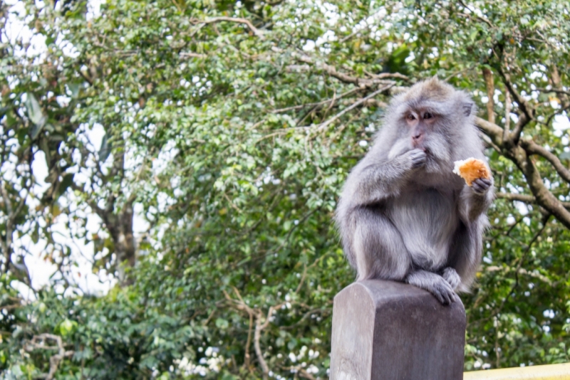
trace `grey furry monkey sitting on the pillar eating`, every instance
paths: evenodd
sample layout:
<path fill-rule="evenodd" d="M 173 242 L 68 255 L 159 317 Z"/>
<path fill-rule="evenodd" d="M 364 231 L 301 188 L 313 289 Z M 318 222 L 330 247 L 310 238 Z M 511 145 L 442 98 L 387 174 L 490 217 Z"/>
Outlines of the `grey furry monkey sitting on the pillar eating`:
<path fill-rule="evenodd" d="M 443 305 L 469 290 L 494 198 L 492 176 L 467 186 L 452 172 L 454 161 L 468 157 L 489 170 L 474 107 L 467 93 L 436 77 L 393 97 L 336 207 L 357 281 L 408 283 Z"/>

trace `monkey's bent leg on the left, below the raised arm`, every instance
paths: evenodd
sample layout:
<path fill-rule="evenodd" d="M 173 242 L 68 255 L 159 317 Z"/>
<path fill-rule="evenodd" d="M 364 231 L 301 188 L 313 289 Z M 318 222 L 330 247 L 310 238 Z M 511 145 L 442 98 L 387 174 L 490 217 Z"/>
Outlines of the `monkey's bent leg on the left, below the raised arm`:
<path fill-rule="evenodd" d="M 411 266 L 400 232 L 382 213 L 359 208 L 355 213 L 353 253 L 358 280 L 403 281 Z"/>

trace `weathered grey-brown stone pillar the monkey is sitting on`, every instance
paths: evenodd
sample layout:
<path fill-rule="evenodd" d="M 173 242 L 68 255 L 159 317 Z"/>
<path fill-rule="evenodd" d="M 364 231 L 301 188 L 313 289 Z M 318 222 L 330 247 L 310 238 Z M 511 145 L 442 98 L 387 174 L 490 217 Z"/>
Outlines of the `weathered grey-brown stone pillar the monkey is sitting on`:
<path fill-rule="evenodd" d="M 366 280 L 334 297 L 331 380 L 461 380 L 465 309 L 394 281 Z"/>

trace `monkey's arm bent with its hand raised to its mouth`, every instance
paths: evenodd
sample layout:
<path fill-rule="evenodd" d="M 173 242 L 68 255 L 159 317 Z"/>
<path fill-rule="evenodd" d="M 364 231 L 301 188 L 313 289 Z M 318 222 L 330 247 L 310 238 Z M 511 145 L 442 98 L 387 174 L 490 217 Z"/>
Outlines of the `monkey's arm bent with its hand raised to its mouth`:
<path fill-rule="evenodd" d="M 425 152 L 413 149 L 387 162 L 375 162 L 367 155 L 348 176 L 341 198 L 351 199 L 354 205 L 367 205 L 397 196 L 413 174 L 425 164 Z"/>

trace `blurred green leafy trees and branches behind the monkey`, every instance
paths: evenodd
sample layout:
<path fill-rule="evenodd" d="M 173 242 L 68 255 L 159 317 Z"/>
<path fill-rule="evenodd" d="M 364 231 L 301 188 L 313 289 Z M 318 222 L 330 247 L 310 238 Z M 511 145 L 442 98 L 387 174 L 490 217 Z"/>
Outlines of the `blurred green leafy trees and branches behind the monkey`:
<path fill-rule="evenodd" d="M 328 378 L 339 191 L 432 75 L 499 192 L 465 369 L 570 361 L 566 1 L 14 0 L 0 33 L 0 378 Z"/>

